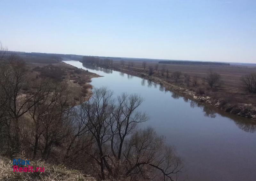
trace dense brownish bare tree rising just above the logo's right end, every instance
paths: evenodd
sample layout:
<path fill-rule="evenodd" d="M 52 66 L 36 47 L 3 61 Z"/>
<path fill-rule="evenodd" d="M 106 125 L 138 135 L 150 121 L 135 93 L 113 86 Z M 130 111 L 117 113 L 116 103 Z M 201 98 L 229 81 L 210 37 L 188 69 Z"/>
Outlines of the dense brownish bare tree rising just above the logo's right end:
<path fill-rule="evenodd" d="M 32 120 L 34 121 L 34 143 L 33 158 L 37 155 L 40 148 L 42 157 L 47 159 L 50 155 L 53 144 L 60 144 L 61 140 L 68 135 L 69 112 L 74 106 L 68 87 L 65 84 L 52 83 L 49 80 L 43 80 L 44 87 L 41 101 L 33 99 L 29 102 L 33 106 L 28 110 Z"/>

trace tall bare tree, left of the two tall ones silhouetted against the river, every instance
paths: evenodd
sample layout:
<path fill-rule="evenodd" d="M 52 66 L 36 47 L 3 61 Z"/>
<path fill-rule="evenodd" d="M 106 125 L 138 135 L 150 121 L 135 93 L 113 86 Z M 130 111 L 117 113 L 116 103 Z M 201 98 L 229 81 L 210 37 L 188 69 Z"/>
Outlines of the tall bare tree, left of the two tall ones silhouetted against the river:
<path fill-rule="evenodd" d="M 111 172 L 105 158 L 104 145 L 110 139 L 111 113 L 114 109 L 113 93 L 106 87 L 96 88 L 89 100 L 81 104 L 84 111 L 86 127 L 92 134 L 97 149 L 88 153 L 99 165 L 101 179 L 105 179 L 105 167 Z"/>

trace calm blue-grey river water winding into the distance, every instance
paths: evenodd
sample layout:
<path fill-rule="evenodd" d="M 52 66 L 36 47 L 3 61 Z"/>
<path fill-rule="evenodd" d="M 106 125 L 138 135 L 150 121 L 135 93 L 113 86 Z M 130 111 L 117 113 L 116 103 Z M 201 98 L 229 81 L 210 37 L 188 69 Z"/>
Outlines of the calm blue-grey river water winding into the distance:
<path fill-rule="evenodd" d="M 191 181 L 255 181 L 256 123 L 165 91 L 154 82 L 108 69 L 63 61 L 104 76 L 93 87 L 107 86 L 115 95 L 140 94 L 140 109 L 152 126 L 166 137 L 185 162 L 182 177 Z M 86 67 L 85 67 L 86 66 Z"/>

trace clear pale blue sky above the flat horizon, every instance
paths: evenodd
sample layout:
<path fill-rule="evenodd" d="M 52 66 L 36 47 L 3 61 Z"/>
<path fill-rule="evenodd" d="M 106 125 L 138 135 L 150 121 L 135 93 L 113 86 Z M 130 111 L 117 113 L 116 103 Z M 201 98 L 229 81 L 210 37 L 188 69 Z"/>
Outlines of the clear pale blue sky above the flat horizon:
<path fill-rule="evenodd" d="M 256 63 L 255 0 L 0 0 L 9 50 Z"/>

